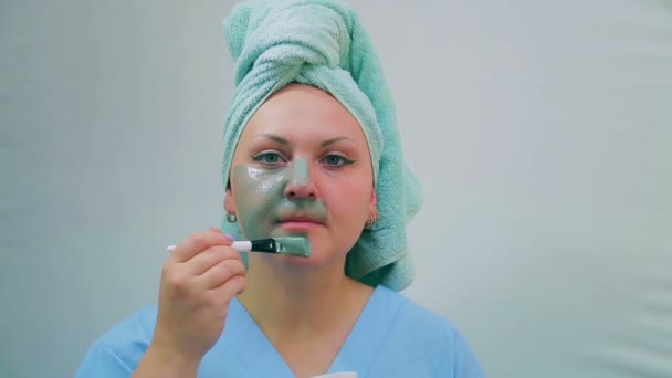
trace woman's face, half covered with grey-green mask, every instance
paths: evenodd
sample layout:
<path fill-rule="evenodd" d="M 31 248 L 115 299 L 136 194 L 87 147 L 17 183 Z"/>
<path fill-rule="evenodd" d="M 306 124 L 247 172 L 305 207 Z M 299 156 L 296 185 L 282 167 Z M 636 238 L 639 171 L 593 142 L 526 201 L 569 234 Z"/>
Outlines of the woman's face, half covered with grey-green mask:
<path fill-rule="evenodd" d="M 322 265 L 345 258 L 376 192 L 366 138 L 353 115 L 317 88 L 293 84 L 275 93 L 245 126 L 233 156 L 224 207 L 245 238 L 307 235 Z"/>

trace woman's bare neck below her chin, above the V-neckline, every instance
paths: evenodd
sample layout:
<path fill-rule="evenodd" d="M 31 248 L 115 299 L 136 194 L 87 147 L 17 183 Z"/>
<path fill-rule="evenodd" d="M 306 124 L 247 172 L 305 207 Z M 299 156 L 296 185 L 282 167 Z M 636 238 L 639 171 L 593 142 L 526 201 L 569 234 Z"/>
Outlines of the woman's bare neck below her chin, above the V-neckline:
<path fill-rule="evenodd" d="M 250 256 L 241 303 L 271 338 L 312 337 L 338 325 L 358 301 L 364 285 L 348 279 L 344 261 L 321 267 L 286 266 Z"/>

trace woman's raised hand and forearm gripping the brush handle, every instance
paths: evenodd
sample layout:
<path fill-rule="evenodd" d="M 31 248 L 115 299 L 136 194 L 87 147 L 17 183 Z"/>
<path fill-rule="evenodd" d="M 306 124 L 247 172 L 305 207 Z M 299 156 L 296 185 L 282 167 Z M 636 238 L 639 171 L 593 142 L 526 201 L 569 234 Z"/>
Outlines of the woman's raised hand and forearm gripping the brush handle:
<path fill-rule="evenodd" d="M 196 375 L 203 355 L 221 336 L 231 298 L 245 287 L 245 266 L 230 245 L 217 229 L 177 244 L 161 272 L 156 328 L 145 356 L 151 369 L 143 369 L 143 357 L 138 370 L 149 372 L 168 364 Z"/>

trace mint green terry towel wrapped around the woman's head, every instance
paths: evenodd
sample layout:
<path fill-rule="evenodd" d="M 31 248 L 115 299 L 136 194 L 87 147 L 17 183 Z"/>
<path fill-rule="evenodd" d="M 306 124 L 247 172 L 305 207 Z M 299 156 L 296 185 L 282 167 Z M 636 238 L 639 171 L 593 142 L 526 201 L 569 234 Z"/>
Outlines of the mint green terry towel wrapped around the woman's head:
<path fill-rule="evenodd" d="M 235 6 L 223 25 L 235 62 L 224 125 L 224 186 L 244 126 L 273 93 L 291 83 L 329 93 L 364 130 L 379 213 L 349 251 L 345 272 L 371 286 L 406 288 L 414 273 L 406 224 L 422 204 L 422 189 L 403 161 L 392 97 L 355 12 L 327 0 L 253 0 Z M 222 225 L 241 237 L 237 224 Z"/>

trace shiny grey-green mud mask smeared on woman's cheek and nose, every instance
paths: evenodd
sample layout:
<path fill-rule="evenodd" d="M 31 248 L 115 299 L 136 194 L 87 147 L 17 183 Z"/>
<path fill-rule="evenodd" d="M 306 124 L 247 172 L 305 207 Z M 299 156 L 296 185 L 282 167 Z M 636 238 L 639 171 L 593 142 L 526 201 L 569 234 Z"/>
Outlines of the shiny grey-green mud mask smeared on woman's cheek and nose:
<path fill-rule="evenodd" d="M 287 235 L 279 229 L 279 221 L 297 213 L 321 222 L 327 220 L 327 209 L 322 200 L 285 195 L 287 185 L 309 183 L 309 167 L 305 159 L 277 168 L 241 165 L 232 172 L 239 225 L 249 240 Z"/>

